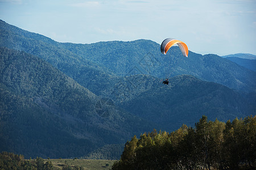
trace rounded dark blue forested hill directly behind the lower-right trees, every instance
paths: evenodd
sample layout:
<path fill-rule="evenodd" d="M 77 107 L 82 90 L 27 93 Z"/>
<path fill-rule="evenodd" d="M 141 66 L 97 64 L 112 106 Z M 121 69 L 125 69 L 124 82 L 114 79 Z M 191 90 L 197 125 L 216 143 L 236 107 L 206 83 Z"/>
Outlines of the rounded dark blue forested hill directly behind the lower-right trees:
<path fill-rule="evenodd" d="M 255 100 L 221 84 L 191 75 L 175 76 L 169 82 L 167 86 L 154 77 L 134 75 L 115 84 L 109 96 L 126 111 L 168 131 L 182 124 L 193 126 L 202 115 L 227 121 L 255 113 Z"/>

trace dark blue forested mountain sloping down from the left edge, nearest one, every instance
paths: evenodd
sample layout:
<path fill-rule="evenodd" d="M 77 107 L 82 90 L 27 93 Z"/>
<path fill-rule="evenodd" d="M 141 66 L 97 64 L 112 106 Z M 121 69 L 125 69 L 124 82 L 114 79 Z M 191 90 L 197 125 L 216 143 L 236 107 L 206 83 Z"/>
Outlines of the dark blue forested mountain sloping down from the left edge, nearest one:
<path fill-rule="evenodd" d="M 71 158 L 151 130 L 42 59 L 0 48 L 0 149 Z"/>

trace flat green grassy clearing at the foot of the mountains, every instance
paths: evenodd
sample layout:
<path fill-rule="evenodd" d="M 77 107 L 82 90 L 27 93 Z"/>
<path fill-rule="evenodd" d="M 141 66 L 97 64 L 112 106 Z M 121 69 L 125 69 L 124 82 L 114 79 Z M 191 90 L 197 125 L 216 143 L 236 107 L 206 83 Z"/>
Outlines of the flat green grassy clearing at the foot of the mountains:
<path fill-rule="evenodd" d="M 111 169 L 117 160 L 98 160 L 98 159 L 49 159 L 55 169 L 62 169 L 65 164 L 70 167 L 78 167 L 80 169 Z M 48 161 L 46 159 L 45 161 Z"/>

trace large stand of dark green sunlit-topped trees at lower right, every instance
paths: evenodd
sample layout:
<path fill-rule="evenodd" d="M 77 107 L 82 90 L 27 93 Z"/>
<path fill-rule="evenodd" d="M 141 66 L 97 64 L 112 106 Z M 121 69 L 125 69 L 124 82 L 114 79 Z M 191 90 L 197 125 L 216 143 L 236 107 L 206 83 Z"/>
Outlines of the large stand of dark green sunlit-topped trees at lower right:
<path fill-rule="evenodd" d="M 203 116 L 195 129 L 133 137 L 112 169 L 254 169 L 255 130 L 255 116 L 226 124 Z"/>

